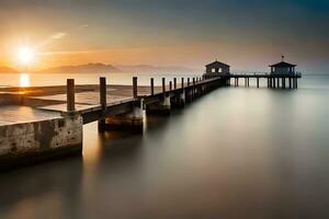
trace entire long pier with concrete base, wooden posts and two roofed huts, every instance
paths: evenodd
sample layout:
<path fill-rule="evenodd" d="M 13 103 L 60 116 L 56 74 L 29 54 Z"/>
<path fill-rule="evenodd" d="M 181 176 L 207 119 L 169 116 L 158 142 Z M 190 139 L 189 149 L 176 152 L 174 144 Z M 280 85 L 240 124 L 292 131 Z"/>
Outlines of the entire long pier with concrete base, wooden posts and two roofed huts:
<path fill-rule="evenodd" d="M 76 85 L 73 79 L 67 79 L 61 87 L 0 88 L 0 169 L 81 154 L 84 124 L 98 122 L 99 131 L 140 134 L 145 115 L 170 115 L 172 108 L 232 81 L 239 87 L 240 79 L 247 88 L 251 79 L 257 88 L 265 80 L 269 89 L 297 89 L 302 74 L 295 72 L 295 65 L 273 66 L 271 73 L 232 74 L 228 65 L 215 61 L 202 77 L 161 78 L 161 85 L 155 85 L 154 78 L 149 85 L 138 85 L 134 77 L 132 85 L 100 78 L 99 84 L 91 85 Z"/>

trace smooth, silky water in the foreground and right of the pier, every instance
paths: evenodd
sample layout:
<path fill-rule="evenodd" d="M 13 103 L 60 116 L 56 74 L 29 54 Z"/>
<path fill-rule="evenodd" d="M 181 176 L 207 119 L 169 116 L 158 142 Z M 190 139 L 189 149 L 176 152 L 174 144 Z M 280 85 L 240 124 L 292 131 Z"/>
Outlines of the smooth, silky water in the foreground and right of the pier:
<path fill-rule="evenodd" d="M 81 157 L 0 173 L 0 218 L 328 218 L 329 77 L 298 85 L 217 89 L 144 135 L 86 125 Z"/>

